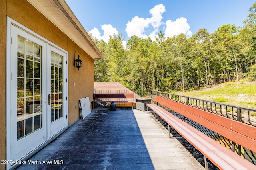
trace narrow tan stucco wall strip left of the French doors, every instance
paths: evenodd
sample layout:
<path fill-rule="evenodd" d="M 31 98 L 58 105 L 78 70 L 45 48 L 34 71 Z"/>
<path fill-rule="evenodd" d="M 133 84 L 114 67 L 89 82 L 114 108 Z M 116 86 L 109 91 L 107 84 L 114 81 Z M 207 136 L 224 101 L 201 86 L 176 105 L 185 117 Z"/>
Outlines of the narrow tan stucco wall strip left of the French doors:
<path fill-rule="evenodd" d="M 0 160 L 6 158 L 6 116 L 5 116 L 5 51 L 6 51 L 6 0 L 0 2 Z M 5 165 L 0 164 L 0 169 Z"/>

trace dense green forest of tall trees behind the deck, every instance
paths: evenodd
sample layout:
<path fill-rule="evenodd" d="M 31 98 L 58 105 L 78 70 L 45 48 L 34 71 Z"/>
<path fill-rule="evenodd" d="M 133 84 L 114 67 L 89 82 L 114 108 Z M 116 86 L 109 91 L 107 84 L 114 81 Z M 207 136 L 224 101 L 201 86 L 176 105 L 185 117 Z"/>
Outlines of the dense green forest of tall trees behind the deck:
<path fill-rule="evenodd" d="M 256 3 L 242 27 L 222 25 L 214 33 L 152 39 L 124 35 L 108 43 L 92 37 L 104 56 L 95 61 L 95 82 L 120 82 L 129 89 L 171 92 L 206 88 L 234 80 L 256 80 Z"/>

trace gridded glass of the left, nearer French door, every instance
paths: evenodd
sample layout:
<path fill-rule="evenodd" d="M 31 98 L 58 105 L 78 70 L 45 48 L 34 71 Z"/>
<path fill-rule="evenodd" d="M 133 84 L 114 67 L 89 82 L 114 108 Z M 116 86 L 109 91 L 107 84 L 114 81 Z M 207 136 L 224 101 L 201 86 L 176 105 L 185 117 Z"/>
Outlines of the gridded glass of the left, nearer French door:
<path fill-rule="evenodd" d="M 42 128 L 42 47 L 18 36 L 17 139 Z"/>

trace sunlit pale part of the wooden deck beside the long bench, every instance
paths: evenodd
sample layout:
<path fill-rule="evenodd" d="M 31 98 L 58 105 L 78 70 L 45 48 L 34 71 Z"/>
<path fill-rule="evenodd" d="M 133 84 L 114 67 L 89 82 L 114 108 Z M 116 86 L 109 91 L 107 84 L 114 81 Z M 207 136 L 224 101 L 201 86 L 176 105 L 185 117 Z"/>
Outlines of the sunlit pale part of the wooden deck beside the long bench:
<path fill-rule="evenodd" d="M 204 170 L 180 142 L 151 113 L 134 109 L 140 132 L 156 170 Z"/>

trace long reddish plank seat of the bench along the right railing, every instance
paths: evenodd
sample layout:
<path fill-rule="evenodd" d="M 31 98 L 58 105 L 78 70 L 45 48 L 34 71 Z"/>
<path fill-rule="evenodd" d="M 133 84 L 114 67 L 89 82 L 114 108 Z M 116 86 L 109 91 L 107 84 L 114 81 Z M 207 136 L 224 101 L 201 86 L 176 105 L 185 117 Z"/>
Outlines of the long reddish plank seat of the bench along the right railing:
<path fill-rule="evenodd" d="M 156 104 L 146 104 L 155 114 L 160 116 L 168 125 L 198 149 L 205 157 L 220 169 L 253 170 L 256 166 L 238 154 L 220 145 L 204 133 L 188 125 Z M 207 168 L 206 168 L 207 169 Z"/>

